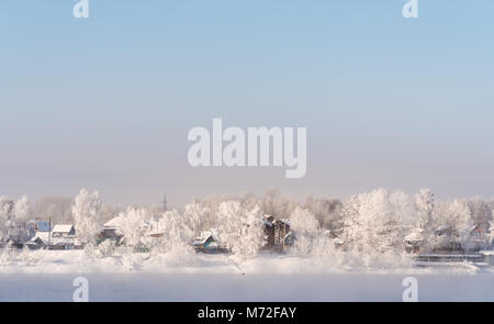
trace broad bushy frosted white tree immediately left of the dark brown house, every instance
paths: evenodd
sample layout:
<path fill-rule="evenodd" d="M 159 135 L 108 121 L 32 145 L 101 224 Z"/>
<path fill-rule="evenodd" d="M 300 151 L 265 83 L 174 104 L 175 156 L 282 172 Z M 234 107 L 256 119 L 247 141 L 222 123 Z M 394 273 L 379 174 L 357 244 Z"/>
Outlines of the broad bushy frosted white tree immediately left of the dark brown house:
<path fill-rule="evenodd" d="M 265 244 L 258 206 L 247 211 L 238 201 L 222 202 L 217 210 L 217 224 L 221 243 L 235 255 L 255 256 Z"/>

